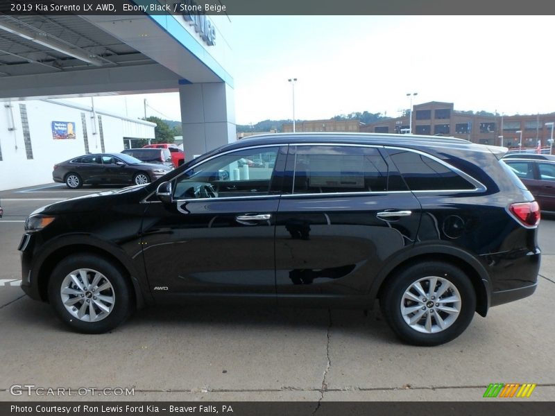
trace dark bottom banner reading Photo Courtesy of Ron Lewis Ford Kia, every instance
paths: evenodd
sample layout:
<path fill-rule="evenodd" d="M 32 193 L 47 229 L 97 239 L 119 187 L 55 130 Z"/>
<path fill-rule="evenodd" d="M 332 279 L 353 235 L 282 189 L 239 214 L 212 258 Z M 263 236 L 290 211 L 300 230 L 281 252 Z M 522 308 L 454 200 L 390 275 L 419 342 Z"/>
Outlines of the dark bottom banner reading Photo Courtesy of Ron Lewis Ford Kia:
<path fill-rule="evenodd" d="M 85 408 L 87 406 L 87 408 Z M 173 406 L 173 408 L 171 407 Z M 67 411 L 69 409 L 69 411 Z M 87 410 L 85 410 L 87 409 Z M 173 411 L 171 411 L 173 409 Z M 187 410 L 186 410 L 187 409 Z M 528 416 L 553 415 L 555 402 L 491 401 L 42 401 L 0 402 L 3 416 Z"/>

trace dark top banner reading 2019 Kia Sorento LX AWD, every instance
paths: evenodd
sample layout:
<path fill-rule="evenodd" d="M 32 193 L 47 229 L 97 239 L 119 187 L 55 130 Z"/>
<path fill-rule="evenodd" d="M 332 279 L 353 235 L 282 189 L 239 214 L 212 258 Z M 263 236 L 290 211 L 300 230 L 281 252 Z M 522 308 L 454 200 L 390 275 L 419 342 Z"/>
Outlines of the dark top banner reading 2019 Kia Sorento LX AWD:
<path fill-rule="evenodd" d="M 157 10 L 155 6 L 168 4 Z M 138 7 L 140 6 L 140 7 Z M 552 0 L 0 0 L 6 15 L 555 15 Z M 515 28 L 516 29 L 516 28 Z"/>

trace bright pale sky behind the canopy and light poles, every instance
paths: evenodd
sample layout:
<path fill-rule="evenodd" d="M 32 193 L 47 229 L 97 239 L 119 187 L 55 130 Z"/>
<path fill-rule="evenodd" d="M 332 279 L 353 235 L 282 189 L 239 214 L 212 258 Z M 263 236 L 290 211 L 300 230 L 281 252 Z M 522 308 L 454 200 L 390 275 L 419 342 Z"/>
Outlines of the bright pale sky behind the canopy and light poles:
<path fill-rule="evenodd" d="M 231 16 L 237 124 L 399 116 L 413 104 L 555 112 L 552 16 Z M 104 110 L 180 120 L 177 93 L 94 98 Z M 90 103 L 90 98 L 71 101 Z"/>

